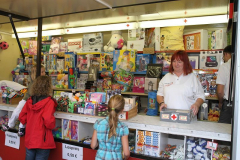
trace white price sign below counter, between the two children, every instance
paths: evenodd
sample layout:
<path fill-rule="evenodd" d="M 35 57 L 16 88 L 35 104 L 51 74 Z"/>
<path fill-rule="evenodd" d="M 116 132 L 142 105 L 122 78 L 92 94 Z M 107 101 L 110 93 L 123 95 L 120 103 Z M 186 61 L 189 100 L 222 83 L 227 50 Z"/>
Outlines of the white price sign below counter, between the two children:
<path fill-rule="evenodd" d="M 63 143 L 62 158 L 67 160 L 82 160 L 83 148 Z"/>

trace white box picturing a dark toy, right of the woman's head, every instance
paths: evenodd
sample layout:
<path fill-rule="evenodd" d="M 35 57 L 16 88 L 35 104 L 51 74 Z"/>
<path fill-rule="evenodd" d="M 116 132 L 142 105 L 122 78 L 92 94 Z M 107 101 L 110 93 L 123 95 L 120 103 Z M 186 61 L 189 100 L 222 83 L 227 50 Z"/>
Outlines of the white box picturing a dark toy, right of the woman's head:
<path fill-rule="evenodd" d="M 200 68 L 201 69 L 218 69 L 223 63 L 223 51 L 201 51 Z"/>

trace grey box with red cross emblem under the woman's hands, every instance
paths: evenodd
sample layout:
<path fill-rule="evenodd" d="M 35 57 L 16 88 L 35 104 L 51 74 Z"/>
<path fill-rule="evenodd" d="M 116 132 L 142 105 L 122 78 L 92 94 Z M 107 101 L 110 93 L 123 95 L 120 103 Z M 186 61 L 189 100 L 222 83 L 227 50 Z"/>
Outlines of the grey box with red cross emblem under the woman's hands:
<path fill-rule="evenodd" d="M 193 114 L 190 110 L 176 110 L 164 108 L 160 111 L 160 121 L 191 123 Z"/>

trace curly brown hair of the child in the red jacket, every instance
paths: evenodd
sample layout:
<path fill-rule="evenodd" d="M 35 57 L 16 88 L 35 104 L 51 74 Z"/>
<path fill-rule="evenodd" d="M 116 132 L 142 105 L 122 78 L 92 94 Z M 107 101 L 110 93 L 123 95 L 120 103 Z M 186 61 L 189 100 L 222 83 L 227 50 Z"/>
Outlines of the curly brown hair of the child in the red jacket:
<path fill-rule="evenodd" d="M 39 76 L 30 89 L 31 96 L 49 96 L 52 92 L 52 80 L 49 76 Z"/>

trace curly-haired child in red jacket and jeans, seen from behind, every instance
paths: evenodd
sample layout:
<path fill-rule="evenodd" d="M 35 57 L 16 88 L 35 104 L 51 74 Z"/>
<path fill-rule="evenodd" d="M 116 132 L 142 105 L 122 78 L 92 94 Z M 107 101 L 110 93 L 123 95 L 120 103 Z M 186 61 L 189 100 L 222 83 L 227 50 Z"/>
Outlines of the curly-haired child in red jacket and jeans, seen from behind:
<path fill-rule="evenodd" d="M 30 98 L 23 107 L 19 120 L 26 124 L 26 160 L 47 160 L 50 149 L 56 148 L 52 129 L 55 127 L 56 101 L 52 92 L 51 78 L 40 76 L 33 81 Z"/>

